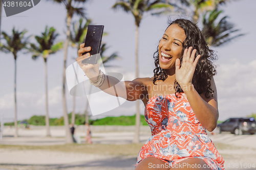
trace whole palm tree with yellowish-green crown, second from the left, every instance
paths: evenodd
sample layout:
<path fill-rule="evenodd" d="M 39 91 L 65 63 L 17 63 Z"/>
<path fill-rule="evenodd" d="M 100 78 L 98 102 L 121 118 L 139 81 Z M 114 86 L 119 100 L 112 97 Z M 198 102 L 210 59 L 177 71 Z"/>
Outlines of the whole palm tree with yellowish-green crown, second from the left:
<path fill-rule="evenodd" d="M 30 43 L 30 51 L 33 53 L 32 59 L 36 60 L 41 56 L 45 61 L 45 81 L 46 81 L 46 136 L 50 134 L 49 112 L 48 112 L 48 79 L 47 79 L 47 58 L 49 55 L 56 53 L 62 48 L 62 42 L 54 44 L 58 34 L 55 29 L 46 27 L 45 32 L 41 33 L 42 36 L 35 36 L 39 46 Z"/>

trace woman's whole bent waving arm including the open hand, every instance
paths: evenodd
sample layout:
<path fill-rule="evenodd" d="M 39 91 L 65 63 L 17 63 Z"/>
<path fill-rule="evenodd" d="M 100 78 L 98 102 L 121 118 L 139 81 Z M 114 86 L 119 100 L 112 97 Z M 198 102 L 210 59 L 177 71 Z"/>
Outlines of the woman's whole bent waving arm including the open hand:
<path fill-rule="evenodd" d="M 180 66 L 180 60 L 176 59 L 175 76 L 176 81 L 180 84 L 182 90 L 187 95 L 187 100 L 193 109 L 197 119 L 202 126 L 208 131 L 213 131 L 217 126 L 217 120 L 219 117 L 217 92 L 213 97 L 205 98 L 204 94 L 199 94 L 192 84 L 192 78 L 197 66 L 197 62 L 201 57 L 198 55 L 195 59 L 196 51 L 190 46 L 184 50 L 182 65 Z M 211 89 L 216 91 L 214 79 L 211 78 Z"/>

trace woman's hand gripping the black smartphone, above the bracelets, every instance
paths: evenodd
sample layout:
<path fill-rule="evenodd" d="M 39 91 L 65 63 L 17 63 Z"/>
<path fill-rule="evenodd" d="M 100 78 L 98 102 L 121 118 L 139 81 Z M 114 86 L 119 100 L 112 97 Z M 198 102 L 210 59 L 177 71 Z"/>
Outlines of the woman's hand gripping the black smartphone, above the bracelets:
<path fill-rule="evenodd" d="M 90 53 L 82 55 L 84 52 L 90 52 L 91 47 L 83 47 L 84 43 L 80 44 L 80 49 L 78 50 L 78 57 L 76 58 L 77 63 L 82 68 L 86 76 L 91 79 L 92 81 L 97 80 L 99 75 L 99 64 L 83 64 L 82 61 L 87 59 L 91 56 Z"/>

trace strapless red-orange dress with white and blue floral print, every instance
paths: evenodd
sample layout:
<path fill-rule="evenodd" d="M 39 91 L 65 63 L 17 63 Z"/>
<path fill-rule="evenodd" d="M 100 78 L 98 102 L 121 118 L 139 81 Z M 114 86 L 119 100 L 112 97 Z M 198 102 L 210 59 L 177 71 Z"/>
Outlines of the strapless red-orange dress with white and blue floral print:
<path fill-rule="evenodd" d="M 156 157 L 175 166 L 188 158 L 203 159 L 212 170 L 224 169 L 224 159 L 191 109 L 185 93 L 153 96 L 145 106 L 152 136 L 141 148 L 136 166 Z"/>

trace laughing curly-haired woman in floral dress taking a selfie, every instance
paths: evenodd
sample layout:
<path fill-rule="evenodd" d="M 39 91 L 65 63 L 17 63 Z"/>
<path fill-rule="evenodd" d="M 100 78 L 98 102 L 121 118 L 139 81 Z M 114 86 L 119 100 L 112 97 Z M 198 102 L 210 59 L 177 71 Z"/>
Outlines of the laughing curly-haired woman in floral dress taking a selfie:
<path fill-rule="evenodd" d="M 139 151 L 135 170 L 156 169 L 157 165 L 161 170 L 224 169 L 224 159 L 206 133 L 216 128 L 219 117 L 213 78 L 216 67 L 212 64 L 216 55 L 195 23 L 187 19 L 170 22 L 154 53 L 151 78 L 119 83 L 117 78 L 104 75 L 99 64 L 81 63 L 91 51 L 90 46 L 83 46 L 76 61 L 91 84 L 128 101 L 141 100 L 145 105 L 152 136 Z M 84 52 L 89 53 L 82 55 Z M 110 88 L 113 85 L 114 92 Z"/>

